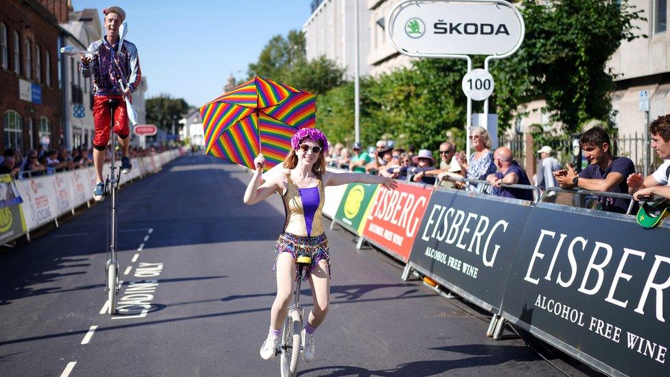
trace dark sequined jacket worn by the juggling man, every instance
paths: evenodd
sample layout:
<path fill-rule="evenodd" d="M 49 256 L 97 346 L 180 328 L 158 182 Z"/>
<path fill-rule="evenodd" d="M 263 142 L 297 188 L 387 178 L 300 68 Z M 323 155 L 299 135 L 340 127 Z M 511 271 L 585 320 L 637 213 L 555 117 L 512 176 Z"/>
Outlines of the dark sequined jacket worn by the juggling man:
<path fill-rule="evenodd" d="M 137 47 L 129 41 L 124 41 L 121 53 L 117 54 L 119 44 L 110 45 L 106 38 L 94 41 L 88 50 L 96 52 L 88 65 L 80 65 L 80 70 L 85 78 L 93 77 L 93 93 L 95 95 L 119 95 L 118 80 L 124 85 L 130 85 L 130 91 L 134 92 L 142 80 L 142 72 L 139 68 L 139 56 Z"/>

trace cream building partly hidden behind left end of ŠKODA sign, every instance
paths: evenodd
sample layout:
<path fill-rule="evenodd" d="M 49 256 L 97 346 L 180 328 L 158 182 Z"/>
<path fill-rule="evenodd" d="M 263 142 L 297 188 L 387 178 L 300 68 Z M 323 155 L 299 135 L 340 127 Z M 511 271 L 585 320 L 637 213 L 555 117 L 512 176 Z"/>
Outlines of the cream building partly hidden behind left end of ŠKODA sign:
<path fill-rule="evenodd" d="M 367 54 L 367 65 L 369 65 L 370 76 L 379 77 L 382 73 L 389 73 L 395 69 L 408 68 L 412 65 L 411 58 L 400 54 L 391 45 L 389 35 L 386 33 L 386 16 L 401 0 L 366 0 L 369 18 L 369 53 Z"/>

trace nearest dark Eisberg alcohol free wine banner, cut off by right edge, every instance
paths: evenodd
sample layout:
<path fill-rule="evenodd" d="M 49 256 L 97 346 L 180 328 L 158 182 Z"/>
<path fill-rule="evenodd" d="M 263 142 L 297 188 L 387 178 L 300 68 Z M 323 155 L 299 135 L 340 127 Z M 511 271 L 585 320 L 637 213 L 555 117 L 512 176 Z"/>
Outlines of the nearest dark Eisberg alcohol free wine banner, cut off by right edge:
<path fill-rule="evenodd" d="M 505 319 L 608 374 L 669 376 L 670 229 L 559 208 L 540 203 L 531 213 Z"/>

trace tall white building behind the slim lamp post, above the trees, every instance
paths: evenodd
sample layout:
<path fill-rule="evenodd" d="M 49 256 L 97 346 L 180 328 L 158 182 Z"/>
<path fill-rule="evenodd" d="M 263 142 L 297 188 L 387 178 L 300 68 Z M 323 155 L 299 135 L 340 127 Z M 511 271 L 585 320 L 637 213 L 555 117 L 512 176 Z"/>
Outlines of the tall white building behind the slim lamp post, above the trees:
<path fill-rule="evenodd" d="M 366 57 L 369 49 L 369 10 L 366 0 L 358 1 L 358 52 L 360 76 L 369 73 Z M 356 5 L 354 0 L 316 0 L 312 1 L 312 15 L 303 25 L 307 59 L 325 56 L 345 69 L 349 80 L 356 69 L 354 21 Z"/>

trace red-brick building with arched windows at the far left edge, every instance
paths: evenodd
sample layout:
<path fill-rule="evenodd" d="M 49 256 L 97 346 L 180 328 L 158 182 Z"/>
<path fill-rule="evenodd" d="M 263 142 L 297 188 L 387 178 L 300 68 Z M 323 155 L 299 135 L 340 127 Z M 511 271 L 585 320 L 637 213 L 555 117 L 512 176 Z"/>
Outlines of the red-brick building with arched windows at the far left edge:
<path fill-rule="evenodd" d="M 25 152 L 62 138 L 59 22 L 68 2 L 3 0 L 0 12 L 0 146 Z"/>

